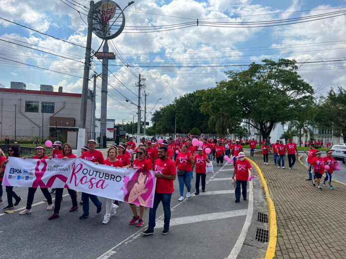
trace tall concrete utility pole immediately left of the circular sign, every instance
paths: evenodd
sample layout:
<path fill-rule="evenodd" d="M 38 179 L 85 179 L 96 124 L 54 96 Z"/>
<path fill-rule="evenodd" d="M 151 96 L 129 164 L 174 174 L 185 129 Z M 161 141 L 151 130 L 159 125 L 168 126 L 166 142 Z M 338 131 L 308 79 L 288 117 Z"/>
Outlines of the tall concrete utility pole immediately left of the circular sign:
<path fill-rule="evenodd" d="M 77 155 L 81 155 L 81 148 L 85 144 L 86 134 L 86 105 L 87 105 L 87 88 L 89 83 L 90 70 L 90 52 L 91 52 L 91 36 L 92 36 L 92 16 L 94 10 L 94 2 L 90 1 L 90 9 L 87 13 L 87 36 L 86 36 L 86 57 L 84 61 L 83 88 L 81 100 L 81 116 L 78 130 Z M 42 127 L 43 132 L 43 127 Z"/>

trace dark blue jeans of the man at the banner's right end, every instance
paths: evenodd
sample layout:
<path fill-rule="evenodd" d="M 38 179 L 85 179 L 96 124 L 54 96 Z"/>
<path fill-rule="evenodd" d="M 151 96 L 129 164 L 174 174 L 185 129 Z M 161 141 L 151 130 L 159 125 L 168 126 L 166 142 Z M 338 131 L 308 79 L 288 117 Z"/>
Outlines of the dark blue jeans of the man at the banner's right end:
<path fill-rule="evenodd" d="M 172 194 L 160 194 L 155 193 L 154 195 L 154 201 L 153 201 L 153 207 L 149 210 L 149 230 L 154 230 L 155 228 L 155 219 L 156 219 L 156 210 L 160 204 L 160 201 L 162 201 L 162 206 L 164 207 L 164 228 L 169 229 L 170 228 L 170 221 L 171 221 L 171 197 Z"/>

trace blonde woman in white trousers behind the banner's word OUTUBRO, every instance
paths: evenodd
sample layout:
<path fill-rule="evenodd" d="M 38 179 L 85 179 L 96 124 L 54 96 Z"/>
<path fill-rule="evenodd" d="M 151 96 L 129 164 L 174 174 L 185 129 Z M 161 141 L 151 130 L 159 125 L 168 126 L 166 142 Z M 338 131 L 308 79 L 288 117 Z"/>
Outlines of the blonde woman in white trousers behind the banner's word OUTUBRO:
<path fill-rule="evenodd" d="M 107 159 L 104 160 L 104 165 L 112 167 L 123 167 L 122 162 L 116 157 L 118 151 L 115 147 L 110 147 L 107 150 Z M 113 199 L 106 198 L 106 214 L 103 216 L 102 224 L 107 224 L 109 222 L 110 216 L 116 213 L 116 210 L 119 206 L 113 204 Z"/>

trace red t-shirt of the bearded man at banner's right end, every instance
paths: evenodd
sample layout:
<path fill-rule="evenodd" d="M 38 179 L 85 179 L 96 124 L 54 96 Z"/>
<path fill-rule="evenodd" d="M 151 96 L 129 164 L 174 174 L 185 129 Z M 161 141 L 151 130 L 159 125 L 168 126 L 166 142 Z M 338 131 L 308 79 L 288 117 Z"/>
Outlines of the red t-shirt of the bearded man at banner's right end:
<path fill-rule="evenodd" d="M 163 175 L 176 175 L 175 163 L 171 159 L 156 159 L 154 163 L 154 171 Z M 155 192 L 160 194 L 173 194 L 173 180 L 156 178 Z"/>

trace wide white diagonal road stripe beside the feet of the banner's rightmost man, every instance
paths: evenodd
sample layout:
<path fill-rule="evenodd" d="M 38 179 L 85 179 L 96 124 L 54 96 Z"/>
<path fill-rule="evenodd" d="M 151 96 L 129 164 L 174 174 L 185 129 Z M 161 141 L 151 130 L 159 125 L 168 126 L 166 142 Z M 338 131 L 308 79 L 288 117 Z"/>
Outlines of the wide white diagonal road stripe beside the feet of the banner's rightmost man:
<path fill-rule="evenodd" d="M 247 209 L 239 209 L 239 210 L 215 212 L 215 213 L 208 213 L 208 214 L 194 215 L 194 216 L 187 216 L 187 217 L 171 218 L 170 227 L 176 226 L 176 225 L 182 225 L 182 224 L 190 224 L 190 223 L 208 221 L 208 220 L 218 220 L 218 219 L 223 219 L 223 218 L 245 216 L 247 214 L 247 211 L 248 211 Z M 157 228 L 163 228 L 164 227 L 164 221 L 160 220 L 159 222 L 157 222 L 156 227 Z"/>

